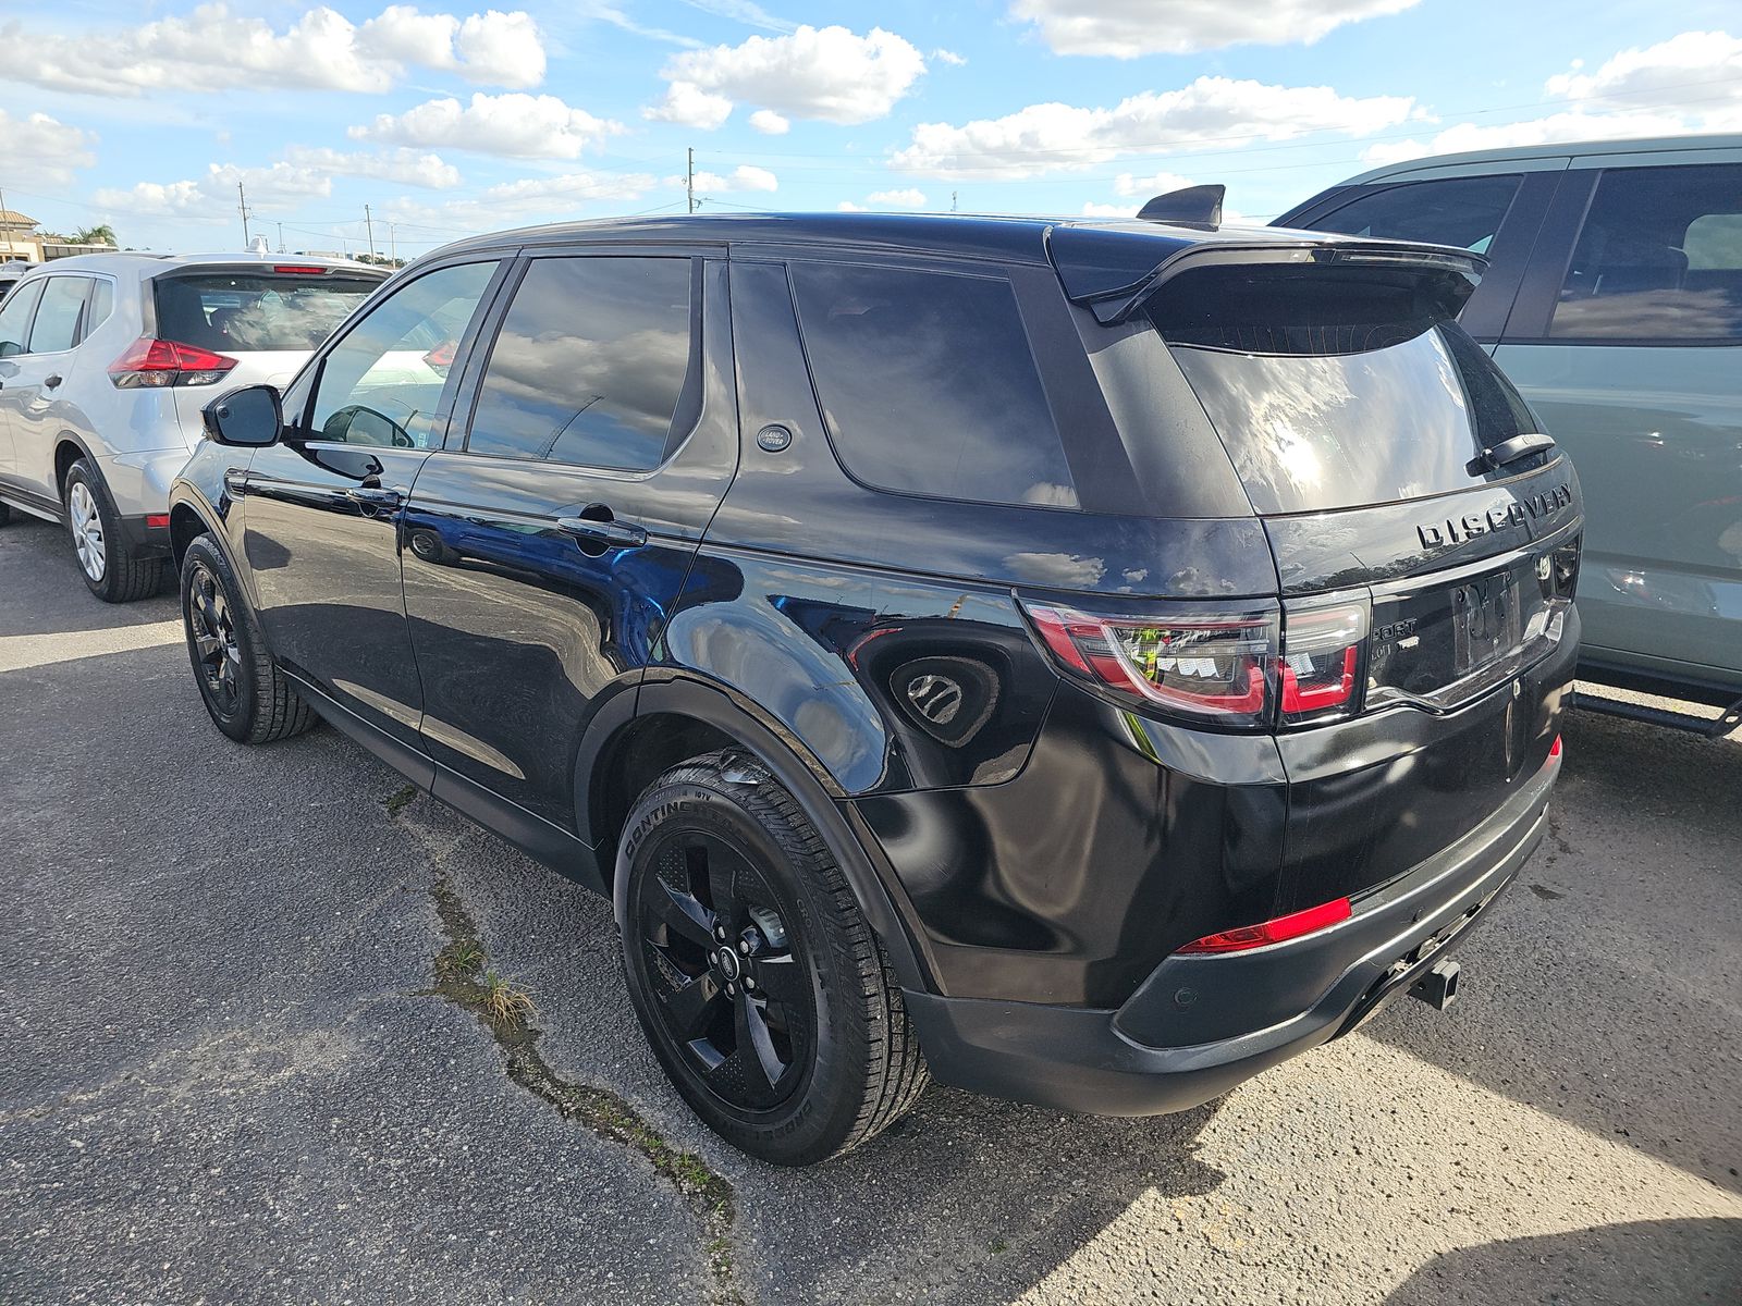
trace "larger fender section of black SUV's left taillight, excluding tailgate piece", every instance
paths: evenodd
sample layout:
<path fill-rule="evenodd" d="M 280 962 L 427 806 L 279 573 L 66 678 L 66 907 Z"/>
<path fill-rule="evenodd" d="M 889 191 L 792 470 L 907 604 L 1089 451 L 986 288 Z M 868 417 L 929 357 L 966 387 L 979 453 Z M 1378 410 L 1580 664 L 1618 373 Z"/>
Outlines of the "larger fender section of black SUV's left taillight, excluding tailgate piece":
<path fill-rule="evenodd" d="M 1096 616 L 1024 608 L 1052 655 L 1080 676 L 1205 721 L 1259 726 L 1268 717 L 1273 611 Z"/>

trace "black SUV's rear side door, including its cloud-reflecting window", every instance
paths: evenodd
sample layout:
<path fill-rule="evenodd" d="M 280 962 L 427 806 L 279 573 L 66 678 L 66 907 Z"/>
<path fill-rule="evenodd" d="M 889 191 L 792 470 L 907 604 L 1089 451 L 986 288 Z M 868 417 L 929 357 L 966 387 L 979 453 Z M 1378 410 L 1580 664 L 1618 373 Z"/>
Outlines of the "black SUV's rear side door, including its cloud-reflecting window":
<path fill-rule="evenodd" d="M 725 259 L 524 259 L 406 510 L 436 792 L 573 829 L 599 702 L 641 679 L 737 467 Z"/>

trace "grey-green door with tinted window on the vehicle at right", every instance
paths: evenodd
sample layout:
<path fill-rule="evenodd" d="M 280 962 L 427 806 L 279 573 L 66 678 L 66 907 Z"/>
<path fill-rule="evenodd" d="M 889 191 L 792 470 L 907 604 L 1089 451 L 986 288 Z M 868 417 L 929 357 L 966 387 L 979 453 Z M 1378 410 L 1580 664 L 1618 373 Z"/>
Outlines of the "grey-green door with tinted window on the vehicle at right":
<path fill-rule="evenodd" d="M 1495 359 L 1585 482 L 1585 656 L 1742 693 L 1742 151 L 1578 162 Z"/>

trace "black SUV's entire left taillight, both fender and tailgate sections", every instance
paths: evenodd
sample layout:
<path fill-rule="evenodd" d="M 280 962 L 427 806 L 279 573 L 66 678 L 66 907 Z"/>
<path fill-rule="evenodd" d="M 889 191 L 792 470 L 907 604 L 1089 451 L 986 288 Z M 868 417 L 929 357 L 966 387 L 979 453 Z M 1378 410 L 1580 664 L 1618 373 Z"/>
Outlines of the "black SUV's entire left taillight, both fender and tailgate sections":
<path fill-rule="evenodd" d="M 1361 707 L 1366 597 L 1251 611 L 1181 603 L 1141 616 L 1023 608 L 1064 670 L 1174 716 L 1263 730 Z"/>

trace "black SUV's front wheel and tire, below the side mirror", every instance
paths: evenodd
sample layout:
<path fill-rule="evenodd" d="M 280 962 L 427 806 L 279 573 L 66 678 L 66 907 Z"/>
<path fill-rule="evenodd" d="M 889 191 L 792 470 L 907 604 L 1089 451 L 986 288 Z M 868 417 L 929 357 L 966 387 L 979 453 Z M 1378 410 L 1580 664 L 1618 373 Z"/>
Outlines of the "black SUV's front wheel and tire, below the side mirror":
<path fill-rule="evenodd" d="M 202 535 L 181 559 L 181 629 L 213 724 L 239 744 L 301 735 L 315 714 L 267 651 L 230 559 Z"/>

